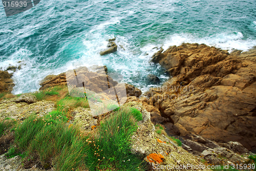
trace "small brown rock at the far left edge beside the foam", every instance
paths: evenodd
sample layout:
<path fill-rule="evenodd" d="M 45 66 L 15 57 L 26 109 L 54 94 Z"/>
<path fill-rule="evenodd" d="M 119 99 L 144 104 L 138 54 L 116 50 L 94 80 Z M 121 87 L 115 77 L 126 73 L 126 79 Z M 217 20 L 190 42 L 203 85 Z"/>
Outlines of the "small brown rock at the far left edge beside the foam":
<path fill-rule="evenodd" d="M 0 92 L 11 92 L 15 84 L 7 71 L 0 71 Z"/>

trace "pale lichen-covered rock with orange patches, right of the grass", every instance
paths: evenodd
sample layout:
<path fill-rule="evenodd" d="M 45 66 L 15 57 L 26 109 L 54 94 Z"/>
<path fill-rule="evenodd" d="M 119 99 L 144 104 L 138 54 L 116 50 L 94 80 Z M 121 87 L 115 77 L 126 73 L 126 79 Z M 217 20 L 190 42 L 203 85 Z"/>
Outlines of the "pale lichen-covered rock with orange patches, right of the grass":
<path fill-rule="evenodd" d="M 150 112 L 147 112 L 144 108 L 142 108 L 142 104 L 138 102 L 129 102 L 125 104 L 126 106 L 131 106 L 136 108 L 142 112 L 143 120 L 139 122 L 139 129 L 137 134 L 132 136 L 132 153 L 141 155 L 145 157 L 145 160 L 149 162 L 151 165 L 153 162 L 148 160 L 150 156 L 154 155 L 162 155 L 162 162 L 160 163 L 155 162 L 155 164 L 161 165 L 204 165 L 200 162 L 198 158 L 193 156 L 192 154 L 185 151 L 183 148 L 177 146 L 176 144 L 170 142 L 164 136 L 159 136 L 155 133 L 155 126 L 150 120 Z M 159 156 L 160 156 L 159 155 Z M 149 157 L 147 157 L 149 156 Z M 206 166 L 205 166 L 206 167 Z M 170 170 L 167 168 L 162 168 L 159 170 Z M 178 169 L 174 169 L 178 170 Z M 195 170 L 191 168 L 187 168 L 186 170 Z M 200 170 L 200 169 L 196 169 Z M 201 170 L 208 170 L 208 169 L 201 169 Z"/>

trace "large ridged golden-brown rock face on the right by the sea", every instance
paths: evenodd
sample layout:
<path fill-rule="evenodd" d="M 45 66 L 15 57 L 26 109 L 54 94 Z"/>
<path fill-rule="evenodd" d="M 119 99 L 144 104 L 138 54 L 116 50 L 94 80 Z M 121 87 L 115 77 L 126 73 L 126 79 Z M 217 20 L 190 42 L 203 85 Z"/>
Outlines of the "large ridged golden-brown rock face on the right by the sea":
<path fill-rule="evenodd" d="M 170 75 L 147 103 L 168 118 L 170 134 L 195 133 L 256 149 L 256 49 L 231 53 L 198 44 L 173 46 L 153 56 Z"/>

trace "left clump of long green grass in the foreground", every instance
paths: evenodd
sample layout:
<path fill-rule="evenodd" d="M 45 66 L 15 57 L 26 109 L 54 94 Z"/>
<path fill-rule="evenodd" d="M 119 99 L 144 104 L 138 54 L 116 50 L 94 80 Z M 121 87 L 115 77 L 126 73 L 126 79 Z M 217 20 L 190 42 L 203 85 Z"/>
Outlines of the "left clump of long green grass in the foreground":
<path fill-rule="evenodd" d="M 26 160 L 36 159 L 45 168 L 58 166 L 56 170 L 71 170 L 86 163 L 84 156 L 88 156 L 90 146 L 80 136 L 79 129 L 75 126 L 68 127 L 64 122 L 50 121 L 32 115 L 17 126 L 15 144 L 20 151 L 26 152 Z M 77 145 L 80 145 L 83 153 Z M 70 159 L 72 163 L 68 162 Z"/>

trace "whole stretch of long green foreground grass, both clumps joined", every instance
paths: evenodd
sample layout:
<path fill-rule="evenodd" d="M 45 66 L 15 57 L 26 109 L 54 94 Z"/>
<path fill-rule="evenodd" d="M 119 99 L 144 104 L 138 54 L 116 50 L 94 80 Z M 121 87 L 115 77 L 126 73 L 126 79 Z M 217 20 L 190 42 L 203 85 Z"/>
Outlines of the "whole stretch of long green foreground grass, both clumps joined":
<path fill-rule="evenodd" d="M 36 160 L 44 168 L 54 166 L 65 171 L 143 170 L 146 164 L 131 153 L 130 147 L 131 136 L 141 118 L 141 113 L 133 108 L 119 109 L 93 134 L 84 136 L 79 125 L 66 124 L 67 118 L 59 110 L 44 117 L 31 115 L 17 124 L 8 156 L 26 154 L 26 161 Z"/>

